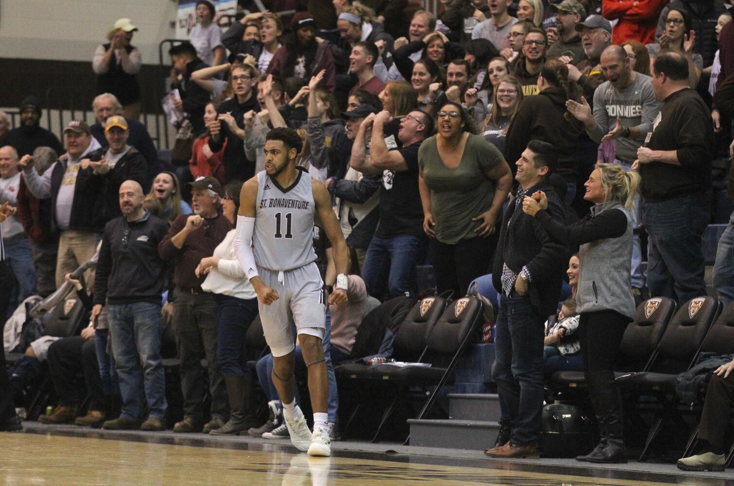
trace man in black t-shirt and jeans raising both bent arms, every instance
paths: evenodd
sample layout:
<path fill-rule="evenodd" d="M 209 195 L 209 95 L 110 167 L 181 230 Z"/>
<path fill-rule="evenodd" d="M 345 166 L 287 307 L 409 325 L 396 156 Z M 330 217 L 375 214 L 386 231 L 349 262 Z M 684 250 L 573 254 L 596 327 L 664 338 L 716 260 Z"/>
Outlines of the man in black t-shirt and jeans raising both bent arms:
<path fill-rule="evenodd" d="M 389 121 L 387 111 L 365 118 L 363 123 L 372 125 L 370 156 L 358 161 L 356 167 L 352 165 L 365 175 L 382 174 L 379 224 L 362 269 L 369 294 L 378 299 L 414 295 L 415 265 L 423 261 L 426 252 L 418 191 L 418 148 L 433 133 L 433 119 L 419 109 L 405 115 L 398 132 L 402 147 L 392 150 L 384 137 L 384 126 Z"/>

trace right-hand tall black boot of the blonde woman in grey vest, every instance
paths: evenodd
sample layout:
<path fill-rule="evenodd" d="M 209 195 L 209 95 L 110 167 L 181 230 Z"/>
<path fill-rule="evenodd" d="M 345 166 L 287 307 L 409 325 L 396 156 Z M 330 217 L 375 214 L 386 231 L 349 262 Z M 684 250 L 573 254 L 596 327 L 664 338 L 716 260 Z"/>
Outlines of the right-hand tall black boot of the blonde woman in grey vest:
<path fill-rule="evenodd" d="M 599 446 L 586 456 L 586 460 L 589 463 L 627 463 L 622 397 L 614 383 L 614 371 L 589 373 L 587 382 L 589 393 L 596 395 L 595 412 L 603 435 Z"/>

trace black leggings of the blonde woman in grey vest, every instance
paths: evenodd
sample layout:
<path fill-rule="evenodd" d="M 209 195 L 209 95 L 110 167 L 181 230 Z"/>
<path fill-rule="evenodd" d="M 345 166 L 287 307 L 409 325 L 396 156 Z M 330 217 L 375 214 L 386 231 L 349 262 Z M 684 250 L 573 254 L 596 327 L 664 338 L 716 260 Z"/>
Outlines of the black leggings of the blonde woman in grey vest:
<path fill-rule="evenodd" d="M 630 318 L 616 311 L 584 312 L 578 319 L 578 340 L 584 372 L 611 371 Z"/>

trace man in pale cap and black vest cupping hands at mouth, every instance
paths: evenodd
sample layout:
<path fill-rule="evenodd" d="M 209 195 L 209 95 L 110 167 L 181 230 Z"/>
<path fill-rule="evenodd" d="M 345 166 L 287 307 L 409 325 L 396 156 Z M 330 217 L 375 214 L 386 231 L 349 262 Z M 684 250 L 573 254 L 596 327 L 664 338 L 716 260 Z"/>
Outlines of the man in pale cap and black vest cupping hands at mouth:
<path fill-rule="evenodd" d="M 137 73 L 142 67 L 142 56 L 131 45 L 137 27 L 129 18 L 115 22 L 107 38 L 100 44 L 92 58 L 92 70 L 97 75 L 96 95 L 112 93 L 123 105 L 123 116 L 137 120 L 140 115 L 140 87 Z"/>

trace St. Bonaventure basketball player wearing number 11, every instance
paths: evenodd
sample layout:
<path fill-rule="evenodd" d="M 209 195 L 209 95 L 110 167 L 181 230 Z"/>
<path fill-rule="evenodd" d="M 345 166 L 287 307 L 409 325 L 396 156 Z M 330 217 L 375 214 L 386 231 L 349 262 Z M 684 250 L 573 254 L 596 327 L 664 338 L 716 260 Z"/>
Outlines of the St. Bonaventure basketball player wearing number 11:
<path fill-rule="evenodd" d="M 332 242 L 338 272 L 331 304 L 346 302 L 349 253 L 326 187 L 296 166 L 302 148 L 297 132 L 274 128 L 265 140 L 265 170 L 242 186 L 237 258 L 258 293 L 265 339 L 273 355 L 272 380 L 291 442 L 311 456 L 329 456 L 329 378 L 321 347 L 325 302 L 312 244 L 315 217 Z M 308 367 L 313 434 L 294 398 L 294 324 Z"/>

